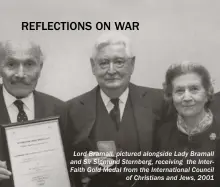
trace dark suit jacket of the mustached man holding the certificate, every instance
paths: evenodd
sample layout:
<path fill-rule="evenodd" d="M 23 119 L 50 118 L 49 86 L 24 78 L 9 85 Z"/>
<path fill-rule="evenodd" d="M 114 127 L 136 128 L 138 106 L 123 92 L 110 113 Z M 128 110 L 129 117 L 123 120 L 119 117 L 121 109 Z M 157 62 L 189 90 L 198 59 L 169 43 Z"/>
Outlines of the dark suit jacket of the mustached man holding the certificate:
<path fill-rule="evenodd" d="M 34 103 L 35 103 L 35 119 L 41 119 L 46 117 L 52 117 L 60 115 L 64 108 L 64 102 L 47 94 L 34 91 Z M 2 85 L 0 85 L 0 125 L 11 123 L 10 117 L 5 105 Z M 5 160 L 4 145 L 2 142 L 0 132 L 0 160 Z M 0 182 L 0 187 L 11 187 L 5 183 L 6 180 Z"/>

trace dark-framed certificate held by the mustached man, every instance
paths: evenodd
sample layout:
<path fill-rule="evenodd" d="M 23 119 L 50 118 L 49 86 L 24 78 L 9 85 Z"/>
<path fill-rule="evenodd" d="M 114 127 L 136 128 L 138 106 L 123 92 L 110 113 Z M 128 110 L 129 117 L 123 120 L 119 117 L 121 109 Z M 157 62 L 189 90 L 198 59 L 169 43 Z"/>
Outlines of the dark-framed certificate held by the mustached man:
<path fill-rule="evenodd" d="M 2 125 L 14 187 L 70 187 L 59 118 Z"/>

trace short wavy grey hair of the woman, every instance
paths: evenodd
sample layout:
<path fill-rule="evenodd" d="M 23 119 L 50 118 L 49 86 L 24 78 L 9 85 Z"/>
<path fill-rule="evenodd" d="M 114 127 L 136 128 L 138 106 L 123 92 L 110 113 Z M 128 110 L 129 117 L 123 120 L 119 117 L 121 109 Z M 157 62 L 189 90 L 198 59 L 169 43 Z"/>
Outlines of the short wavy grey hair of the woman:
<path fill-rule="evenodd" d="M 165 99 L 169 102 L 172 102 L 173 80 L 180 75 L 188 73 L 196 73 L 201 77 L 202 85 L 207 93 L 208 102 L 206 103 L 206 106 L 208 107 L 214 94 L 211 76 L 209 71 L 204 66 L 194 62 L 172 64 L 168 68 L 165 76 L 165 82 L 163 83 Z"/>

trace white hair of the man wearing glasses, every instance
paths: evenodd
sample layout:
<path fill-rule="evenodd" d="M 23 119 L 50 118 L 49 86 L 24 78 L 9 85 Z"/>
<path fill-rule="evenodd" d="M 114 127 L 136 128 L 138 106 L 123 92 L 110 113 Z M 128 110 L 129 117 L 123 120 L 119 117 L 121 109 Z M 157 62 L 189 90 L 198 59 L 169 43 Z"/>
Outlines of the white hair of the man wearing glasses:
<path fill-rule="evenodd" d="M 92 58 L 95 59 L 99 51 L 108 45 L 117 45 L 122 44 L 125 47 L 126 54 L 129 57 L 133 57 L 131 51 L 131 42 L 130 39 L 124 34 L 118 31 L 108 31 L 103 33 L 95 42 L 92 51 Z"/>

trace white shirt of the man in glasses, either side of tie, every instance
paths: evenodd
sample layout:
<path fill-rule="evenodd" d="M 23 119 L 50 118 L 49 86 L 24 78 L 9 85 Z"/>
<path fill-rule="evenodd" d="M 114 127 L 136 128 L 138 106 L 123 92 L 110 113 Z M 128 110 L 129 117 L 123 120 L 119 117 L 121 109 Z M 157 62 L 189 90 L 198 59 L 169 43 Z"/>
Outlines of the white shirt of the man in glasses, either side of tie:
<path fill-rule="evenodd" d="M 120 120 L 122 120 L 124 114 L 125 105 L 128 99 L 128 93 L 129 89 L 127 88 L 119 97 Z M 110 113 L 111 110 L 114 108 L 114 104 L 110 101 L 111 99 L 102 91 L 102 89 L 100 89 L 100 94 L 108 113 Z"/>

